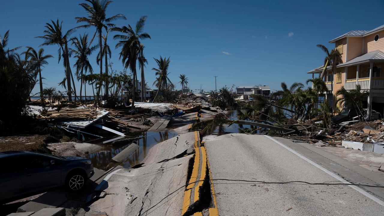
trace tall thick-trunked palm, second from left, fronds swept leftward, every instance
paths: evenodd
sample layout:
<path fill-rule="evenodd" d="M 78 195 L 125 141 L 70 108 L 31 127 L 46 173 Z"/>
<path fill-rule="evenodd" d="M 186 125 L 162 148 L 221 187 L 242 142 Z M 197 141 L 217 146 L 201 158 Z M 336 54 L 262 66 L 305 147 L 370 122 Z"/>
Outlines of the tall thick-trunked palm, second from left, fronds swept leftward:
<path fill-rule="evenodd" d="M 65 65 L 65 76 L 66 76 L 67 90 L 68 90 L 68 101 L 72 101 L 71 77 L 73 76 L 72 76 L 70 60 L 69 60 L 68 42 L 70 41 L 69 37 L 74 32 L 74 29 L 70 29 L 64 34 L 61 28 L 62 24 L 63 24 L 63 21 L 59 22 L 59 19 L 57 19 L 56 22 L 51 20 L 51 23 L 45 23 L 45 28 L 46 28 L 46 30 L 44 30 L 45 35 L 38 36 L 36 38 L 44 39 L 44 43 L 42 43 L 40 46 L 59 45 L 58 62 L 60 62 L 61 52 L 63 52 L 63 58 L 64 58 L 63 61 Z M 75 94 L 74 101 L 76 103 L 76 87 L 74 86 L 74 81 L 73 81 L 73 90 Z"/>

